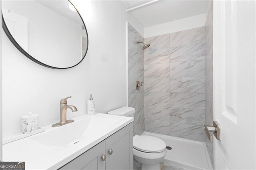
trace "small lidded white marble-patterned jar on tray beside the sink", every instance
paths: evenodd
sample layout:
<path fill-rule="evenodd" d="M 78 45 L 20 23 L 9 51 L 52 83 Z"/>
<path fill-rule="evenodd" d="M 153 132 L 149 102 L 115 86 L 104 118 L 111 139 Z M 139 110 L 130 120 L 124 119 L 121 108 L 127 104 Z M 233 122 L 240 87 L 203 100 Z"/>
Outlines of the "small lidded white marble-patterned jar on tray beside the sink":
<path fill-rule="evenodd" d="M 38 114 L 28 113 L 21 117 L 21 131 L 22 133 L 32 132 L 38 129 Z"/>

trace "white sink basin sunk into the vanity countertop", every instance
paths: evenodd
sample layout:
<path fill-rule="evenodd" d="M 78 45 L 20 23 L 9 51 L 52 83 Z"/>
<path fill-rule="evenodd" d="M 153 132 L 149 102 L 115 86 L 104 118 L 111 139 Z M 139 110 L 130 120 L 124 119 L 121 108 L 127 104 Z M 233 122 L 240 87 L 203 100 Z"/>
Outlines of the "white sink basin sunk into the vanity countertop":
<path fill-rule="evenodd" d="M 50 147 L 67 147 L 90 138 L 102 128 L 108 128 L 115 123 L 114 119 L 84 116 L 67 125 L 51 127 L 47 132 L 34 136 L 32 140 Z"/>

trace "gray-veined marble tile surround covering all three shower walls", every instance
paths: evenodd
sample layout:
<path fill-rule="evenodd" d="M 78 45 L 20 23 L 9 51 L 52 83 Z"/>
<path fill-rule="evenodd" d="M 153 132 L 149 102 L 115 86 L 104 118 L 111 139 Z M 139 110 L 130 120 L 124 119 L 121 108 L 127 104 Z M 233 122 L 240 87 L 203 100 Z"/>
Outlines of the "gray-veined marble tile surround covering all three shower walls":
<path fill-rule="evenodd" d="M 142 50 L 137 40 L 150 43 Z M 135 82 L 144 82 L 136 91 Z M 212 5 L 206 26 L 143 38 L 128 24 L 128 106 L 136 109 L 134 135 L 142 132 L 213 144 L 204 132 L 212 125 Z"/>

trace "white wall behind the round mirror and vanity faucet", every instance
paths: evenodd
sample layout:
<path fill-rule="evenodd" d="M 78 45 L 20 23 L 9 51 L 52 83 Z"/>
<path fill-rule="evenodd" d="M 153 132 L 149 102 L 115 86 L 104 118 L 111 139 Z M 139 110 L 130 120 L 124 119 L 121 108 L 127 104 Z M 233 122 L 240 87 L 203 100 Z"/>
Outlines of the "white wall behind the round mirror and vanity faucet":
<path fill-rule="evenodd" d="M 72 96 L 68 118 L 86 113 L 86 100 L 93 94 L 96 112 L 106 113 L 127 104 L 126 21 L 143 29 L 126 13 L 120 1 L 73 0 L 84 18 L 89 36 L 85 59 L 74 68 L 49 69 L 34 63 L 2 32 L 2 88 L 4 133 L 20 129 L 20 117 L 28 112 L 40 114 L 40 126 L 60 119 L 60 99 Z"/>

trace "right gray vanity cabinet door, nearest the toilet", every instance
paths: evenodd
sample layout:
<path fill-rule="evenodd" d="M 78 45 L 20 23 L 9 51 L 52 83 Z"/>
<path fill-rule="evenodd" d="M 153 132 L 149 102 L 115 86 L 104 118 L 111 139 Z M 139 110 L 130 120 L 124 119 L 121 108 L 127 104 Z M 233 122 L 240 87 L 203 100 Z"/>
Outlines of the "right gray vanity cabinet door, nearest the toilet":
<path fill-rule="evenodd" d="M 106 138 L 105 142 L 106 170 L 133 170 L 132 123 Z"/>

